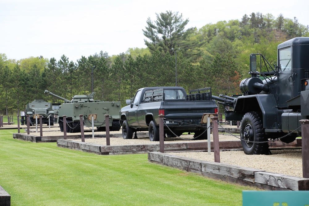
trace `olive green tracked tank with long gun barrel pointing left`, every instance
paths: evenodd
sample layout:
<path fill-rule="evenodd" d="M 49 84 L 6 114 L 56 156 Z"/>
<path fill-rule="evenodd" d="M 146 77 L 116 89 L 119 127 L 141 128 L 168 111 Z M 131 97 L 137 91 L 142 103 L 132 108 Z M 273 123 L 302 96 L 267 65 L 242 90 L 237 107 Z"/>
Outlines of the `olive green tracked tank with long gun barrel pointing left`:
<path fill-rule="evenodd" d="M 45 90 L 44 94 L 52 95 L 64 101 L 60 105 L 58 111 L 58 123 L 61 132 L 63 132 L 63 116 L 66 115 L 66 132 L 74 133 L 80 132 L 80 117 L 83 115 L 84 126 L 92 128 L 92 120 L 88 120 L 89 114 L 97 114 L 94 120 L 94 127 L 97 131 L 106 131 L 105 115 L 109 115 L 109 131 L 119 131 L 121 125 L 119 124 L 119 111 L 121 109 L 120 102 L 105 102 L 94 100 L 94 92 L 90 95 L 75 95 L 72 100 L 65 99 L 58 95 Z"/>

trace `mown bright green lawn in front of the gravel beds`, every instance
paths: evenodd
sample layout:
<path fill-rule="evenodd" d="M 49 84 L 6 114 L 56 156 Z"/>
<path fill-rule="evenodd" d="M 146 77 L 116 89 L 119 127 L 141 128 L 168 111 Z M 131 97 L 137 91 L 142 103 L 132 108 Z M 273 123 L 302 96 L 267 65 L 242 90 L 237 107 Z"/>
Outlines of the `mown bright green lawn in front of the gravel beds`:
<path fill-rule="evenodd" d="M 242 205 L 254 189 L 147 161 L 15 140 L 0 130 L 0 185 L 11 205 Z"/>

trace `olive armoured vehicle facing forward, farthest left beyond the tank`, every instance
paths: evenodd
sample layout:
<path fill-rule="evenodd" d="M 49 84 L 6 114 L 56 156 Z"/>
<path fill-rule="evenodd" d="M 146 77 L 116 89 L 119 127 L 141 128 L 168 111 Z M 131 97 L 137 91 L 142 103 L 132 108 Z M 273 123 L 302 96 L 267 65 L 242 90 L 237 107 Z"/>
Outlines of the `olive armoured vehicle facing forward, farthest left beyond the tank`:
<path fill-rule="evenodd" d="M 36 119 L 33 118 L 34 114 L 42 115 L 42 124 L 50 124 L 50 126 L 54 125 L 54 111 L 52 103 L 45 102 L 43 99 L 36 99 L 31 103 L 28 103 L 23 116 L 21 116 L 20 123 L 22 125 L 27 124 L 26 115 L 29 115 L 30 125 L 35 125 Z M 38 124 L 40 124 L 39 120 Z"/>

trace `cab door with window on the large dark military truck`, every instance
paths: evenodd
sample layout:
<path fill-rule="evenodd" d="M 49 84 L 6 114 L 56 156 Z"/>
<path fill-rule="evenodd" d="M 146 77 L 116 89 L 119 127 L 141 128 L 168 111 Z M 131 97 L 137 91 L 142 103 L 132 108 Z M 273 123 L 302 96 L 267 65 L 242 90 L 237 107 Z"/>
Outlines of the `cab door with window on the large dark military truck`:
<path fill-rule="evenodd" d="M 292 52 L 291 47 L 278 50 L 278 107 L 287 107 L 286 101 L 293 98 L 292 87 L 294 78 L 292 76 Z"/>

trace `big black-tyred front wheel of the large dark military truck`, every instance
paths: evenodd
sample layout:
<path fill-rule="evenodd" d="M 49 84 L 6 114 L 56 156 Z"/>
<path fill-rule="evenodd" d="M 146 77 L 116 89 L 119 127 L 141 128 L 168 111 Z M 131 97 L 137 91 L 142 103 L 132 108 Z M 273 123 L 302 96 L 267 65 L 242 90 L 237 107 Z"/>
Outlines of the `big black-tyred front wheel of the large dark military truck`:
<path fill-rule="evenodd" d="M 240 139 L 245 154 L 270 154 L 268 143 L 262 143 L 268 139 L 265 137 L 260 113 L 248 112 L 243 116 L 240 124 Z"/>

